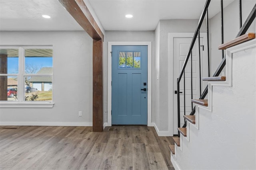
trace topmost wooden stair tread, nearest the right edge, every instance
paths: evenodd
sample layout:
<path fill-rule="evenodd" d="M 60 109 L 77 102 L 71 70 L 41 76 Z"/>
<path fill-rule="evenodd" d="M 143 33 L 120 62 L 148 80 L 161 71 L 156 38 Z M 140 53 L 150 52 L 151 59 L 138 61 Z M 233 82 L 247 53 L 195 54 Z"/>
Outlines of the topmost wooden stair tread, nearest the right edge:
<path fill-rule="evenodd" d="M 241 35 L 240 37 L 237 37 L 231 41 L 228 41 L 222 45 L 219 45 L 218 46 L 218 49 L 219 50 L 225 50 L 229 47 L 233 47 L 234 45 L 238 45 L 240 43 L 244 43 L 246 41 L 249 41 L 251 39 L 254 39 L 255 38 L 255 33 L 247 33 L 247 34 L 244 34 L 244 35 Z"/>

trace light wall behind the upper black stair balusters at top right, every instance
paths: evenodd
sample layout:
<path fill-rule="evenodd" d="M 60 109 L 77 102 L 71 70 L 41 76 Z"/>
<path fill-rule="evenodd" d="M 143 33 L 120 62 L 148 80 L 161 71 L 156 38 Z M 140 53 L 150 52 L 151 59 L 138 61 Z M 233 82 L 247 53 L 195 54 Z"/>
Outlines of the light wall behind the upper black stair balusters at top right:
<path fill-rule="evenodd" d="M 242 24 L 250 14 L 256 0 L 242 0 Z M 235 0 L 223 10 L 224 43 L 236 37 L 239 32 L 239 0 Z M 220 12 L 210 19 L 211 39 L 211 75 L 214 74 L 222 60 L 221 50 L 221 19 Z M 247 32 L 255 32 L 255 20 Z M 225 52 L 224 52 L 225 54 Z"/>

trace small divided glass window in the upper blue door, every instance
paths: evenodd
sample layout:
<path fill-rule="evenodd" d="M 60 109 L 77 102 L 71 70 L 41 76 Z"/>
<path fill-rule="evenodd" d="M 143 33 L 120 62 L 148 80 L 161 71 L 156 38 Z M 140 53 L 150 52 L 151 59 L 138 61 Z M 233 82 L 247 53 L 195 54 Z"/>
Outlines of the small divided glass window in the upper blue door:
<path fill-rule="evenodd" d="M 140 68 L 140 52 L 119 52 L 119 68 Z"/>

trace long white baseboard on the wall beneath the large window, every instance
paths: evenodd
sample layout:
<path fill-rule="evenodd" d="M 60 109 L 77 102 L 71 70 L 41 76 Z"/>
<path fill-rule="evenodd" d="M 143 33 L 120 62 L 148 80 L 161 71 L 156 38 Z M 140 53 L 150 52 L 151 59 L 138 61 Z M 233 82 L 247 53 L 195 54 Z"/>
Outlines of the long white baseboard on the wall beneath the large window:
<path fill-rule="evenodd" d="M 0 122 L 0 126 L 92 126 L 92 122 Z"/>

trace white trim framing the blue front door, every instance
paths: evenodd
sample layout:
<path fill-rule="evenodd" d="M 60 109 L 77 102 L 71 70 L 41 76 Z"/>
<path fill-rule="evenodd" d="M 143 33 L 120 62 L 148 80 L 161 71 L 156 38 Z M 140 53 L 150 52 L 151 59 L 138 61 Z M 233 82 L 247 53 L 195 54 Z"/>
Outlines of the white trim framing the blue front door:
<path fill-rule="evenodd" d="M 151 123 L 151 84 L 152 84 L 152 42 L 108 42 L 108 126 L 112 125 L 112 116 L 111 116 L 111 104 L 112 104 L 112 60 L 111 60 L 111 51 L 112 45 L 147 45 L 148 46 L 148 126 L 152 126 Z"/>

